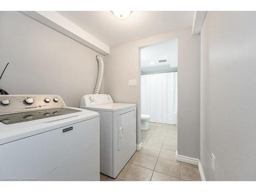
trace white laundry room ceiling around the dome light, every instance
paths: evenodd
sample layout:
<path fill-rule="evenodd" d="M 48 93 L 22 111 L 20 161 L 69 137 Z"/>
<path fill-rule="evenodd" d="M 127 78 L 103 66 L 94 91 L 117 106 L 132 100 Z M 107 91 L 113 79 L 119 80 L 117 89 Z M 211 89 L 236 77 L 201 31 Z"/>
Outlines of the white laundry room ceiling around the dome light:
<path fill-rule="evenodd" d="M 193 11 L 133 11 L 125 19 L 111 11 L 58 13 L 108 46 L 191 27 L 194 17 Z"/>

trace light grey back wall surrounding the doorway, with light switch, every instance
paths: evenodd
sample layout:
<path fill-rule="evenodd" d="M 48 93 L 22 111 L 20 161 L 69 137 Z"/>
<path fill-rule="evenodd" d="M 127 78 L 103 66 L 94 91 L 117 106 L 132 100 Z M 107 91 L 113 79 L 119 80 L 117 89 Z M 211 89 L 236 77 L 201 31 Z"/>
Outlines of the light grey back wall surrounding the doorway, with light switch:
<path fill-rule="evenodd" d="M 105 56 L 105 93 L 110 94 L 115 102 L 138 105 L 140 84 L 137 84 L 137 87 L 129 87 L 128 80 L 140 81 L 139 48 L 176 38 L 179 54 L 178 154 L 199 158 L 200 36 L 191 36 L 191 28 L 111 47 L 111 54 Z M 140 106 L 137 114 L 140 116 Z M 140 134 L 138 127 L 137 134 Z"/>

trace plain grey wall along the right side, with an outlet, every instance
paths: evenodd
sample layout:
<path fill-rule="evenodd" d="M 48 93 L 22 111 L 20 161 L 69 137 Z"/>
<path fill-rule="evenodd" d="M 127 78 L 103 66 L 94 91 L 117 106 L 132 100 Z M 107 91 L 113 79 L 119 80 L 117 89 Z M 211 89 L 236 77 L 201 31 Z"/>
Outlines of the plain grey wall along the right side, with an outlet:
<path fill-rule="evenodd" d="M 207 12 L 204 21 L 201 164 L 206 180 L 256 180 L 255 23 L 256 12 Z"/>

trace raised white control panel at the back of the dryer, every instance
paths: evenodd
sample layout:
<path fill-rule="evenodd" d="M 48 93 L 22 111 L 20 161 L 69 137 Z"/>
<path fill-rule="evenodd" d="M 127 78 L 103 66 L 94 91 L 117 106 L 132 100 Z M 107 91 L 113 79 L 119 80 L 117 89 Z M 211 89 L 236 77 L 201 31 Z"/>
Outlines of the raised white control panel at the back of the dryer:
<path fill-rule="evenodd" d="M 108 94 L 84 95 L 81 98 L 80 108 L 85 106 L 94 106 L 109 103 L 113 103 L 113 100 Z"/>

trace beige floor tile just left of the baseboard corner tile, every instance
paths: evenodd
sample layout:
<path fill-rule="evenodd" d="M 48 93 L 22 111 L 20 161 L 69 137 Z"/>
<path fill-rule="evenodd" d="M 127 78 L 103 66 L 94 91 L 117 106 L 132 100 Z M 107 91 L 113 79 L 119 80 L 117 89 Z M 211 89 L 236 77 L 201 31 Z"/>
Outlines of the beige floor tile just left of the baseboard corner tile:
<path fill-rule="evenodd" d="M 180 163 L 158 159 L 155 171 L 180 179 Z"/>

